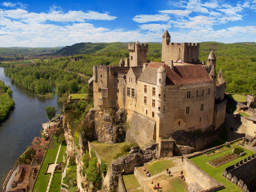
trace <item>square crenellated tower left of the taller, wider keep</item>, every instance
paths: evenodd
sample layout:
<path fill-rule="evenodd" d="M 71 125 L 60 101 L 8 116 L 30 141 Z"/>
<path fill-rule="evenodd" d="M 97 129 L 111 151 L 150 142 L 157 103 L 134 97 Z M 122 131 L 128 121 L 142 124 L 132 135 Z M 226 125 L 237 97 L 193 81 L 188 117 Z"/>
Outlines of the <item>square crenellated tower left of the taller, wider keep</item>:
<path fill-rule="evenodd" d="M 128 49 L 130 67 L 143 66 L 143 63 L 147 63 L 148 44 L 139 44 L 137 41 L 136 44 L 128 44 Z"/>

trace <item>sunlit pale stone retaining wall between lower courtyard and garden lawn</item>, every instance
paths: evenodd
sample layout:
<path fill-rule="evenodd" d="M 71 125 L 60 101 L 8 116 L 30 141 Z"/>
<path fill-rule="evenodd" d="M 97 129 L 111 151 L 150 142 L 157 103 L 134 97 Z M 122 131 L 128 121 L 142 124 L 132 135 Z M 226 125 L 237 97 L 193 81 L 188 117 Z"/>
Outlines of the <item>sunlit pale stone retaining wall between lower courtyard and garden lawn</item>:
<path fill-rule="evenodd" d="M 213 179 L 210 175 L 205 173 L 200 167 L 195 165 L 188 158 L 184 158 L 183 164 L 184 174 L 188 179 L 194 178 L 196 175 L 196 182 L 198 182 L 205 190 L 205 192 L 214 192 L 224 189 L 224 185 Z M 194 179 L 192 179 L 194 180 Z"/>

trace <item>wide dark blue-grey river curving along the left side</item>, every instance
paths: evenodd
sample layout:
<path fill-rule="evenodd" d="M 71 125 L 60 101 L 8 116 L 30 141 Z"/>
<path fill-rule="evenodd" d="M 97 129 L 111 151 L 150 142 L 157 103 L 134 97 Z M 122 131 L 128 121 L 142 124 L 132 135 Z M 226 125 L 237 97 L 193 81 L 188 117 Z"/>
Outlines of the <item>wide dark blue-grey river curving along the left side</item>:
<path fill-rule="evenodd" d="M 39 136 L 42 123 L 48 121 L 44 108 L 54 106 L 59 113 L 63 104 L 57 102 L 56 95 L 54 99 L 39 97 L 30 90 L 12 83 L 10 78 L 4 75 L 3 70 L 4 68 L 0 67 L 0 80 L 4 81 L 5 85 L 11 86 L 15 108 L 8 119 L 0 124 L 1 186 L 17 158 L 26 151 L 27 146 L 31 145 L 33 138 Z"/>

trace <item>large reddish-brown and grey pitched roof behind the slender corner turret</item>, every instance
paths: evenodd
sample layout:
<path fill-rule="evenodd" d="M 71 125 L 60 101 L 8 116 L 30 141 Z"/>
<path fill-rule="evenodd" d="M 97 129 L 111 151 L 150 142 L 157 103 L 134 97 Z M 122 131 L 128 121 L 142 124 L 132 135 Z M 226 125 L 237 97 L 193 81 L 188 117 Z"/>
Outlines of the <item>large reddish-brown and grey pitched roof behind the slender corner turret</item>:
<path fill-rule="evenodd" d="M 174 70 L 171 70 L 170 66 L 153 61 L 149 63 L 138 80 L 156 85 L 157 69 L 160 67 L 166 69 L 166 85 L 184 86 L 185 84 L 195 84 L 194 86 L 196 87 L 202 87 L 214 83 L 202 65 L 174 66 Z"/>

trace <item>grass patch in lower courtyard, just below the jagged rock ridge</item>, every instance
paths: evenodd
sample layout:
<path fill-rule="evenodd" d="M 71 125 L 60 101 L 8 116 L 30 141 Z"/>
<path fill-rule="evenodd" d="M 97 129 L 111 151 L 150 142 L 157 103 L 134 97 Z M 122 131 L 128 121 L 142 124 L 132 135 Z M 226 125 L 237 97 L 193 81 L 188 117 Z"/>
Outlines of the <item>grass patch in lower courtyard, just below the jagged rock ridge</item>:
<path fill-rule="evenodd" d="M 153 163 L 147 164 L 144 168 L 149 171 L 149 174 L 155 175 L 162 171 L 166 171 L 166 168 L 170 169 L 171 167 L 175 167 L 176 163 L 171 160 L 158 160 Z"/>

